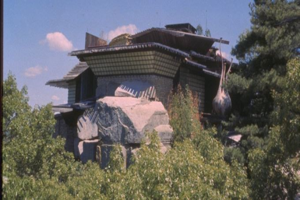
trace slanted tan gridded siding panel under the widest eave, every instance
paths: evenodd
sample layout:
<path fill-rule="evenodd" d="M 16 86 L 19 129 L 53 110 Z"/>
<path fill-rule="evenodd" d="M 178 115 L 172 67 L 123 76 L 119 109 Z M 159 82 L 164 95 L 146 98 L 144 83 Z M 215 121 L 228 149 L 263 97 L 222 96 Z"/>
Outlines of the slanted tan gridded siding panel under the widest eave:
<path fill-rule="evenodd" d="M 159 51 L 139 51 L 85 57 L 96 76 L 157 74 L 173 78 L 180 62 Z"/>

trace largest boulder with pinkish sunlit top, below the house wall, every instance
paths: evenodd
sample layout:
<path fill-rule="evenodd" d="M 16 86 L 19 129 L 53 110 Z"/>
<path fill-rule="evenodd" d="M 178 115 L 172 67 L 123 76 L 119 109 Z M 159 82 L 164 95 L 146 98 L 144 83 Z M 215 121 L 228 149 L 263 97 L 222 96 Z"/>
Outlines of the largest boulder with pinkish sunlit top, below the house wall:
<path fill-rule="evenodd" d="M 104 97 L 96 102 L 94 110 L 98 114 L 99 139 L 106 144 L 140 144 L 145 132 L 169 123 L 162 103 L 144 98 Z"/>

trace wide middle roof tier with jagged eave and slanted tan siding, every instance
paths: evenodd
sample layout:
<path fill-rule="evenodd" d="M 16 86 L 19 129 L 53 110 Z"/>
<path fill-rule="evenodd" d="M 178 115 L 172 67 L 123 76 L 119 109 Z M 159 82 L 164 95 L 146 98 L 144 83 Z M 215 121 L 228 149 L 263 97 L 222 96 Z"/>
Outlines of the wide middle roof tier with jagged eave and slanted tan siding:
<path fill-rule="evenodd" d="M 85 60 L 96 76 L 160 74 L 173 77 L 180 63 L 185 63 L 205 74 L 219 77 L 205 65 L 192 61 L 190 54 L 158 43 L 98 47 L 72 51 L 70 55 Z M 181 61 L 174 57 L 181 57 Z"/>

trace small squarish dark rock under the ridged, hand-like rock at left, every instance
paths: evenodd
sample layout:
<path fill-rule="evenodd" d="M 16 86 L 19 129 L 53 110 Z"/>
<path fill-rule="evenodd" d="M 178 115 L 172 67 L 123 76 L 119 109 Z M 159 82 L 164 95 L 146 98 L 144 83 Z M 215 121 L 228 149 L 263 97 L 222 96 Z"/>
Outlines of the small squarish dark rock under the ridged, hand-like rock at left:
<path fill-rule="evenodd" d="M 96 160 L 96 146 L 99 140 L 86 140 L 78 144 L 79 157 L 82 163 Z"/>

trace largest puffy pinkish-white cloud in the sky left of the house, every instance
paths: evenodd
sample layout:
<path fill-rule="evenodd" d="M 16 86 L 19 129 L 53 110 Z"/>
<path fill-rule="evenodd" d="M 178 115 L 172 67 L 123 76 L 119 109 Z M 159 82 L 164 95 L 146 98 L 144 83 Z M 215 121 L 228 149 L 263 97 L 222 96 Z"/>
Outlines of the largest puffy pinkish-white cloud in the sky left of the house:
<path fill-rule="evenodd" d="M 72 41 L 61 32 L 48 33 L 46 38 L 40 41 L 40 44 L 47 43 L 51 50 L 71 51 L 74 49 Z"/>

